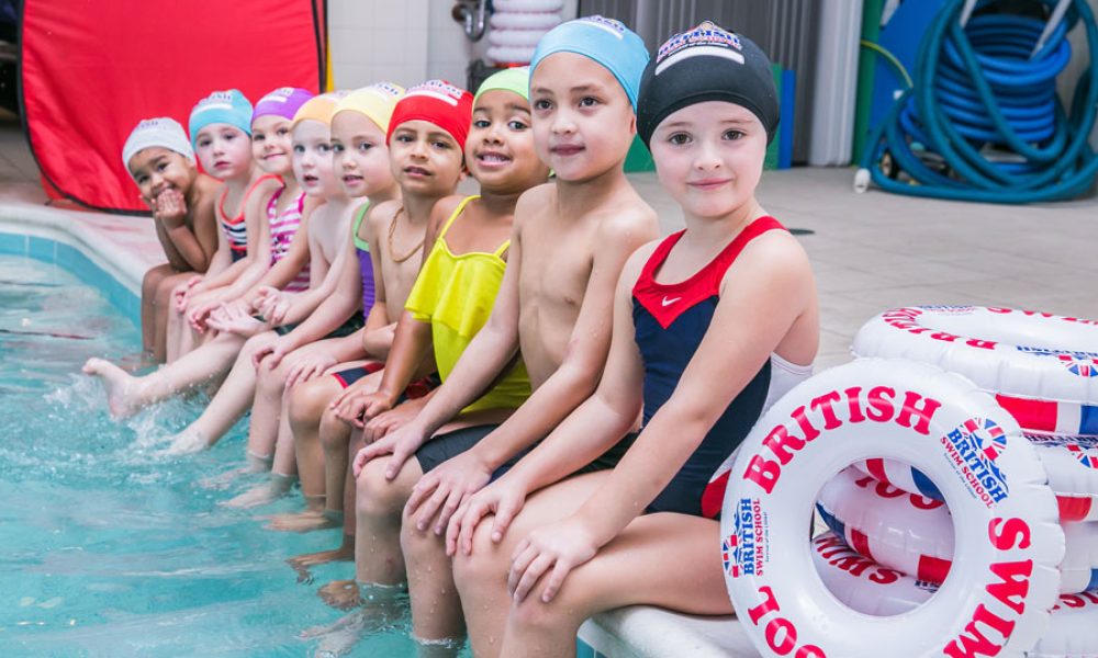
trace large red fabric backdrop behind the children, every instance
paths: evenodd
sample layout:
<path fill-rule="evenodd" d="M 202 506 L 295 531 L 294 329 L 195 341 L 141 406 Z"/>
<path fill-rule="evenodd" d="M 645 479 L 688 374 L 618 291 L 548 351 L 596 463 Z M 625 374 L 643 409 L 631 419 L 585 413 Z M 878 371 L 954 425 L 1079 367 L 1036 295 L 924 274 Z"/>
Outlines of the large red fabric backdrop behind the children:
<path fill-rule="evenodd" d="M 21 97 L 44 186 L 83 205 L 145 211 L 122 164 L 138 121 L 215 89 L 253 102 L 277 87 L 318 91 L 321 0 L 25 0 Z"/>

